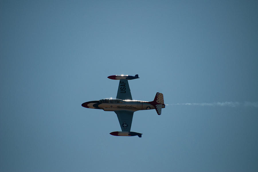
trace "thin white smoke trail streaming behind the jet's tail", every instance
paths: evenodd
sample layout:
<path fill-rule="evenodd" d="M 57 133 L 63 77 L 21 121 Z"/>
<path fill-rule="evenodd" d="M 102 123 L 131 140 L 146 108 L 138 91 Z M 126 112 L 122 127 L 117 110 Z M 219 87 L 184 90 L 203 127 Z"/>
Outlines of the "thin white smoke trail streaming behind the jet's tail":
<path fill-rule="evenodd" d="M 213 102 L 213 103 L 173 103 L 168 105 L 192 105 L 192 106 L 229 106 L 229 107 L 237 107 L 237 106 L 245 106 L 245 107 L 258 107 L 257 102 L 248 102 L 240 103 L 240 102 L 232 102 L 232 101 L 225 101 L 225 102 Z"/>

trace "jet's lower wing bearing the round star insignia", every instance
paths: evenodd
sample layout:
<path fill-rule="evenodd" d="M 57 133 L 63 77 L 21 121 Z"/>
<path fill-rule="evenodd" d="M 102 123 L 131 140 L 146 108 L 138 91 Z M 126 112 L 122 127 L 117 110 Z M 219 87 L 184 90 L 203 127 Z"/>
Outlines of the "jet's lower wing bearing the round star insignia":
<path fill-rule="evenodd" d="M 114 111 L 114 112 L 117 115 L 122 131 L 130 131 L 134 112 L 131 112 L 131 111 Z"/>

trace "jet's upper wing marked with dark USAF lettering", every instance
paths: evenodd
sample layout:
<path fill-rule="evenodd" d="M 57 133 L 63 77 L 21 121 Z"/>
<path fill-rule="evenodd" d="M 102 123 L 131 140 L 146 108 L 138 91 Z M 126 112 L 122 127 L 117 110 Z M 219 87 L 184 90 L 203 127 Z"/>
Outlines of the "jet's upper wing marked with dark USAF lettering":
<path fill-rule="evenodd" d="M 132 95 L 129 88 L 128 80 L 126 79 L 119 80 L 116 98 L 121 100 L 132 100 Z"/>

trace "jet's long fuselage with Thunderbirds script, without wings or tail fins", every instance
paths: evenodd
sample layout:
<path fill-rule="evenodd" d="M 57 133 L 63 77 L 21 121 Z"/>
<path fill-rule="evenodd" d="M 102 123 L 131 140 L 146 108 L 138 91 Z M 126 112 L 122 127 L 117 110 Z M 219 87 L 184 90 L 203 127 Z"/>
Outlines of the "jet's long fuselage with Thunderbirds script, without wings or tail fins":
<path fill-rule="evenodd" d="M 92 109 L 103 109 L 104 111 L 126 110 L 135 112 L 139 110 L 155 109 L 155 107 L 151 105 L 148 101 L 120 100 L 113 98 L 101 99 L 99 101 L 88 101 L 83 103 L 82 106 Z"/>

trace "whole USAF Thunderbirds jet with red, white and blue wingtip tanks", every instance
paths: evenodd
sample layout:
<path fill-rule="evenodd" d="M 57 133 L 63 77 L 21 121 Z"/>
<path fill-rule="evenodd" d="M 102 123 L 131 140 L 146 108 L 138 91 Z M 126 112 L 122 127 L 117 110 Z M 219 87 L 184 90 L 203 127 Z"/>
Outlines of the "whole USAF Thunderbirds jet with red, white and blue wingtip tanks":
<path fill-rule="evenodd" d="M 128 80 L 138 79 L 139 76 L 111 75 L 109 79 L 119 80 L 116 99 L 106 98 L 98 101 L 88 101 L 81 104 L 82 107 L 91 109 L 103 109 L 104 111 L 114 111 L 118 117 L 122 131 L 111 132 L 114 136 L 138 136 L 142 133 L 131 131 L 132 118 L 135 111 L 155 109 L 161 115 L 161 109 L 165 108 L 163 94 L 157 92 L 153 101 L 133 100 Z"/>

